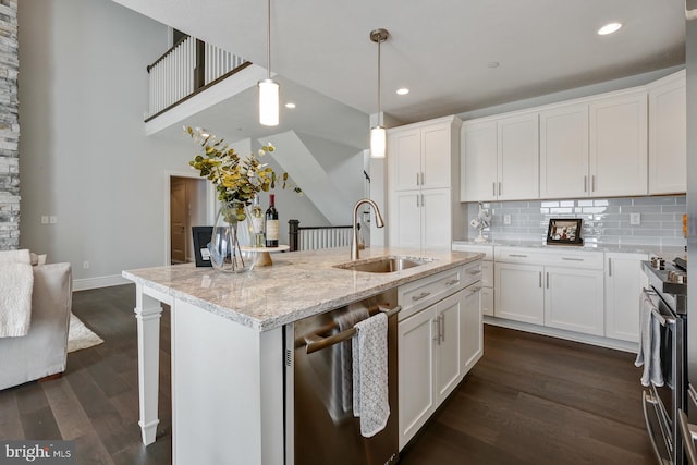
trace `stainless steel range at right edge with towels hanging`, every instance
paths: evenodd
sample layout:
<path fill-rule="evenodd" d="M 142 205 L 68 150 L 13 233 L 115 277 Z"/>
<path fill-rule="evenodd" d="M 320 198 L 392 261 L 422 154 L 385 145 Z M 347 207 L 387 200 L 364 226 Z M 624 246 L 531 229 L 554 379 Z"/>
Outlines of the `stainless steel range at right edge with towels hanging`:
<path fill-rule="evenodd" d="M 658 257 L 641 264 L 649 282 L 640 308 L 644 416 L 661 464 L 685 463 L 680 412 L 687 402 L 686 265 Z"/>

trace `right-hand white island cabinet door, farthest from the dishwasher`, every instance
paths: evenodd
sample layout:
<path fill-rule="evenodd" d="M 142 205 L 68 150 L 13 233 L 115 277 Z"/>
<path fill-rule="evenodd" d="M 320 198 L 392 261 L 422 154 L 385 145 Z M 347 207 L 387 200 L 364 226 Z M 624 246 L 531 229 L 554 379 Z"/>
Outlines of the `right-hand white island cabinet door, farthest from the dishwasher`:
<path fill-rule="evenodd" d="M 484 320 L 481 317 L 481 301 L 484 287 L 464 289 L 461 291 L 462 297 L 462 315 L 460 321 L 461 354 L 462 360 L 461 374 L 464 377 L 467 371 L 484 355 Z M 489 290 L 491 291 L 491 290 Z"/>

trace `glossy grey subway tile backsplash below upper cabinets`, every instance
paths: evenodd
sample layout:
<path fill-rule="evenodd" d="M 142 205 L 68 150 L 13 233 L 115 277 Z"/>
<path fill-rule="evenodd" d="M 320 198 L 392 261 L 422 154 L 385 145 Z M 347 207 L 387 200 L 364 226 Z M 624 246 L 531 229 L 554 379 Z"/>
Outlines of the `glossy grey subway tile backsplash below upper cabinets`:
<path fill-rule="evenodd" d="M 464 236 L 473 240 L 477 230 L 469 221 L 477 217 L 477 203 L 467 203 Z M 484 230 L 489 241 L 539 241 L 547 238 L 550 218 L 580 218 L 585 244 L 684 246 L 684 195 L 563 200 L 484 203 L 491 211 L 491 225 Z M 631 213 L 640 224 L 631 224 Z M 504 217 L 511 224 L 504 224 Z"/>

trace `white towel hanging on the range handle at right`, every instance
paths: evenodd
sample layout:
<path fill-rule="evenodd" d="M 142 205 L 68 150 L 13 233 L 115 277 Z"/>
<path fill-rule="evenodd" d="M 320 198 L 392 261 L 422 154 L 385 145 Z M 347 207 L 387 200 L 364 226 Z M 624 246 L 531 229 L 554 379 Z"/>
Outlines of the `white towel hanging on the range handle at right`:
<path fill-rule="evenodd" d="M 644 366 L 641 384 L 663 386 L 663 371 L 661 370 L 661 323 L 653 318 L 651 310 L 656 308 L 651 297 L 646 292 L 641 293 L 639 307 L 639 352 L 634 365 Z"/>

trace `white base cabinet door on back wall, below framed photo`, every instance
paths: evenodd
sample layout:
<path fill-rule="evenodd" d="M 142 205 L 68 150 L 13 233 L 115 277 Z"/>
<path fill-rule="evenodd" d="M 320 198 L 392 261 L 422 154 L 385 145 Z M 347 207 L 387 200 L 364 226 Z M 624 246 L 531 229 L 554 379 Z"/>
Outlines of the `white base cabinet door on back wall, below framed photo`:
<path fill-rule="evenodd" d="M 600 270 L 545 268 L 545 325 L 603 335 L 603 276 Z"/>

